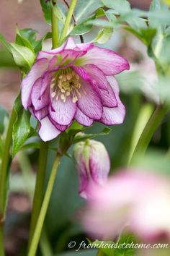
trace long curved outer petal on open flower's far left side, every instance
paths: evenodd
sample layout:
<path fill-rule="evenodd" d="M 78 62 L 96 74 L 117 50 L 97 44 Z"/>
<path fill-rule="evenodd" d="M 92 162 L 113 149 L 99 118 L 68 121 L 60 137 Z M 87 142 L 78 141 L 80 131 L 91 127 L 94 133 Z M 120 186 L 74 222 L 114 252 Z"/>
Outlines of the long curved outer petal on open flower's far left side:
<path fill-rule="evenodd" d="M 31 92 L 35 81 L 42 76 L 43 72 L 48 68 L 48 59 L 40 59 L 35 62 L 30 72 L 22 80 L 22 105 L 25 109 L 31 106 Z"/>

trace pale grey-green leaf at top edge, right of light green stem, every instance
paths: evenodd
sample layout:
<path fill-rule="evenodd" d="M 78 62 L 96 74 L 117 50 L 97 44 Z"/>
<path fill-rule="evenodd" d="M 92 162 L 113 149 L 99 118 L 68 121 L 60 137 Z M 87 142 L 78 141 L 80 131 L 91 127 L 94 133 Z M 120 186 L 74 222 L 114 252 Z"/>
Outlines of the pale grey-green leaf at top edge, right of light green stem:
<path fill-rule="evenodd" d="M 93 12 L 95 12 L 99 7 L 103 7 L 103 3 L 100 0 L 78 0 L 75 9 L 76 21 L 80 22 L 84 18 L 89 17 Z"/>

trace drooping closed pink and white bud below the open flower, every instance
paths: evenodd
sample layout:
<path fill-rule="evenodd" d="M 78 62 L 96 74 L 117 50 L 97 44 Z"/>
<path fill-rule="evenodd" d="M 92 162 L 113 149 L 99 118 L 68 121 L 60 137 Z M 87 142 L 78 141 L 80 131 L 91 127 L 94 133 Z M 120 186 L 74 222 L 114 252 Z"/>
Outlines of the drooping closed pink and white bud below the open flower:
<path fill-rule="evenodd" d="M 88 187 L 91 183 L 102 185 L 107 181 L 109 155 L 104 145 L 95 140 L 77 143 L 73 155 L 79 175 L 79 194 L 89 198 Z"/>

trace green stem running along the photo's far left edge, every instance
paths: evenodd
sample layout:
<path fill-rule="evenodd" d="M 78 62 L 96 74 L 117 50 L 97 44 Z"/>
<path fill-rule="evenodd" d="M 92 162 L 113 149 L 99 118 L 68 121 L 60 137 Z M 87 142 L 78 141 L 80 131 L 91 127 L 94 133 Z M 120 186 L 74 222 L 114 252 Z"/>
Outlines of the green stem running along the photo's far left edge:
<path fill-rule="evenodd" d="M 5 147 L 4 153 L 1 162 L 1 170 L 0 170 L 0 255 L 4 256 L 4 218 L 5 218 L 5 210 L 6 210 L 6 186 L 7 186 L 7 173 L 9 168 L 9 160 L 11 158 L 10 155 L 10 147 L 12 144 L 12 128 L 14 121 L 16 119 L 16 112 L 14 108 L 12 110 L 12 115 L 9 120 L 9 127 L 6 133 Z"/>

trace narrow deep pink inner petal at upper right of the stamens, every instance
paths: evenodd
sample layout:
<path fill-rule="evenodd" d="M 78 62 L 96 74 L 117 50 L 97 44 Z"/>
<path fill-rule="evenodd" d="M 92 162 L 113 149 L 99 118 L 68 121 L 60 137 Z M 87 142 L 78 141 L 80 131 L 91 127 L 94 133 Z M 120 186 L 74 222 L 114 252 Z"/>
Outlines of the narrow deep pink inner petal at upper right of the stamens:
<path fill-rule="evenodd" d="M 107 90 L 108 81 L 102 70 L 93 64 L 85 65 L 84 69 L 91 77 L 91 80 L 97 83 L 98 88 Z"/>

